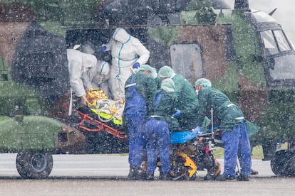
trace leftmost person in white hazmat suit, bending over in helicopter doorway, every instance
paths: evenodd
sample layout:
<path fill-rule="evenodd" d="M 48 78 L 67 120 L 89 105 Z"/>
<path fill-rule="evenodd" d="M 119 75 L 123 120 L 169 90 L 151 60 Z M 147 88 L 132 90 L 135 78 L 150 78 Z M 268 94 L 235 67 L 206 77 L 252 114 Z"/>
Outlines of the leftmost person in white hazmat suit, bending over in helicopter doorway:
<path fill-rule="evenodd" d="M 95 81 L 98 80 L 101 66 L 104 64 L 108 67 L 108 62 L 98 61 L 94 55 L 75 49 L 67 49 L 67 56 L 71 89 L 79 98 L 80 107 L 87 106 L 86 90 L 97 87 Z"/>

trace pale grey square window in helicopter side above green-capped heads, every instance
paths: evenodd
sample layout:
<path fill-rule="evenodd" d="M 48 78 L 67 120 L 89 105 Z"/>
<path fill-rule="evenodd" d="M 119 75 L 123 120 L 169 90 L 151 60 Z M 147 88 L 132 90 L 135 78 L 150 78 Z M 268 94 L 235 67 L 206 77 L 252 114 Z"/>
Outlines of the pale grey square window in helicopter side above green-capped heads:
<path fill-rule="evenodd" d="M 202 50 L 197 43 L 173 44 L 170 46 L 172 69 L 185 76 L 191 84 L 203 77 Z"/>

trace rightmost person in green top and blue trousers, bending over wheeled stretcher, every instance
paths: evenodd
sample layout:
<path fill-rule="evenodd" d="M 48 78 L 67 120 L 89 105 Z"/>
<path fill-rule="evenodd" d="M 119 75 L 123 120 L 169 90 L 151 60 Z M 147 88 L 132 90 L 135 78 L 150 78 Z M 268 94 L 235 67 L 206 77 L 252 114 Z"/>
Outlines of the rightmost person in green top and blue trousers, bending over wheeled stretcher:
<path fill-rule="evenodd" d="M 222 143 L 224 145 L 224 173 L 217 175 L 216 180 L 236 179 L 237 157 L 241 166 L 240 175 L 237 180 L 249 181 L 251 173 L 251 147 L 247 133 L 244 115 L 237 105 L 230 102 L 229 98 L 206 78 L 195 82 L 196 94 L 199 99 L 199 124 L 205 118 L 211 116 L 213 110 L 214 119 L 222 130 Z"/>

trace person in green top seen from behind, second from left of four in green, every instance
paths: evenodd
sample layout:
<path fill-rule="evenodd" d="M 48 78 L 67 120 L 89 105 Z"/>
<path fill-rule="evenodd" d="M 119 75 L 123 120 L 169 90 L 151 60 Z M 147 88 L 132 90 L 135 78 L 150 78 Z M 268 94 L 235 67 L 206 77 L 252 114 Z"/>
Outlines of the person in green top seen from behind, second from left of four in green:
<path fill-rule="evenodd" d="M 154 180 L 157 168 L 157 155 L 160 153 L 162 173 L 161 180 L 171 180 L 171 149 L 170 129 L 177 127 L 177 119 L 172 117 L 175 113 L 175 84 L 167 78 L 162 81 L 161 89 L 155 97 L 155 111 L 145 124 L 145 138 L 147 139 L 146 151 L 148 158 L 148 178 Z M 158 150 L 158 151 L 157 151 Z"/>

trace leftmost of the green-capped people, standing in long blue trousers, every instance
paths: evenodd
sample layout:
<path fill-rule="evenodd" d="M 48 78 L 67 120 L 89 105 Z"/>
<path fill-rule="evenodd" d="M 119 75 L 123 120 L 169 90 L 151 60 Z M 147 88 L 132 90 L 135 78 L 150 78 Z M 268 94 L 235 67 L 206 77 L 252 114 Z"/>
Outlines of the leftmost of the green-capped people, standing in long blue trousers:
<path fill-rule="evenodd" d="M 125 82 L 124 118 L 129 136 L 129 180 L 141 180 L 140 166 L 145 153 L 144 124 L 152 114 L 157 73 L 149 65 L 141 65 Z"/>

